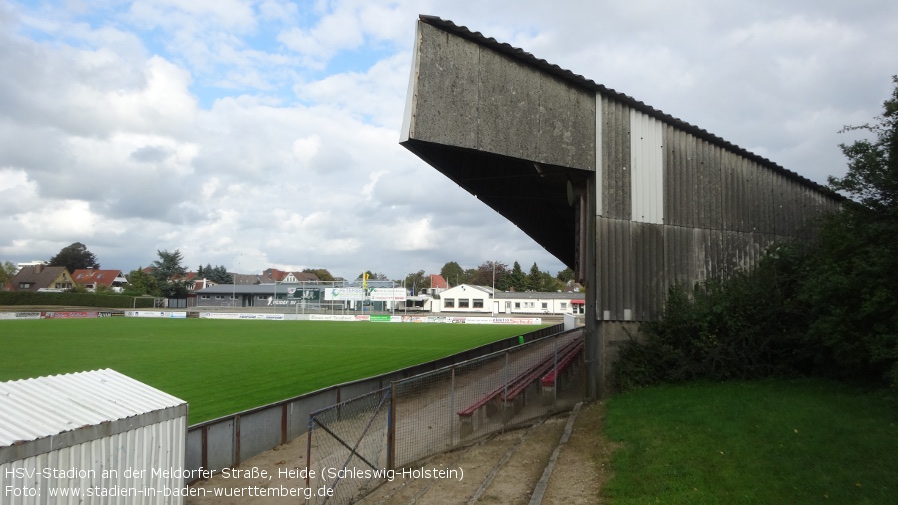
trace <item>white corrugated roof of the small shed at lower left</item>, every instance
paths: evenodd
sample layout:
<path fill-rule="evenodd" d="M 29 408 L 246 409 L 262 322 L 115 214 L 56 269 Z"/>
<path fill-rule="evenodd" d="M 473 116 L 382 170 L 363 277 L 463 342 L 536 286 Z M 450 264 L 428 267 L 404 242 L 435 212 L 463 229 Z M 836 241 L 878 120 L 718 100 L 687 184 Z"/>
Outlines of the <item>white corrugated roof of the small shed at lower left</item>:
<path fill-rule="evenodd" d="M 0 382 L 0 447 L 185 403 L 108 368 Z"/>

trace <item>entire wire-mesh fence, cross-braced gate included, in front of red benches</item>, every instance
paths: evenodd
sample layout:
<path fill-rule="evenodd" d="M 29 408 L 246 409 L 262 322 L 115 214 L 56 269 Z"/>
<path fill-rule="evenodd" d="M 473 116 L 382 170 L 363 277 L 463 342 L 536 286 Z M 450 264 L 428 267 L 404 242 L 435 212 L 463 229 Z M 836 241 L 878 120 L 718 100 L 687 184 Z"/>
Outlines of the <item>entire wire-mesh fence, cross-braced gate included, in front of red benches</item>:
<path fill-rule="evenodd" d="M 582 328 L 397 380 L 309 416 L 315 503 L 346 504 L 402 468 L 569 410 L 583 398 Z"/>

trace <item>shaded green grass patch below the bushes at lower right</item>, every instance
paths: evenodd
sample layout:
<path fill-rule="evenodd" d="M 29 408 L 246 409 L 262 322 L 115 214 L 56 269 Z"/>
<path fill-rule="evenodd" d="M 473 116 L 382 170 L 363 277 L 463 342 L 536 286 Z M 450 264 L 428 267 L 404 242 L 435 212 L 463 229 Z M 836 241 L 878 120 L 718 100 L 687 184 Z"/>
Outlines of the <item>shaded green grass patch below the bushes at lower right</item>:
<path fill-rule="evenodd" d="M 823 380 L 659 386 L 613 397 L 605 503 L 898 503 L 882 393 Z"/>

